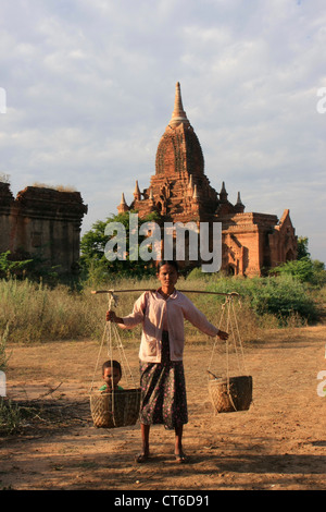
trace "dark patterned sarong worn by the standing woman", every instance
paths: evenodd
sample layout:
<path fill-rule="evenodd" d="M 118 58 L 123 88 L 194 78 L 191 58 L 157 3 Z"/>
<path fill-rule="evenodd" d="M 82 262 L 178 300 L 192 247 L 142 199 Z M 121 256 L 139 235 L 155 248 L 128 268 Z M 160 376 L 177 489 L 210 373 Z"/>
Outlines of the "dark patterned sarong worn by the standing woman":
<path fill-rule="evenodd" d="M 140 423 L 165 428 L 188 423 L 186 382 L 181 361 L 170 361 L 168 333 L 163 331 L 161 363 L 140 362 Z"/>

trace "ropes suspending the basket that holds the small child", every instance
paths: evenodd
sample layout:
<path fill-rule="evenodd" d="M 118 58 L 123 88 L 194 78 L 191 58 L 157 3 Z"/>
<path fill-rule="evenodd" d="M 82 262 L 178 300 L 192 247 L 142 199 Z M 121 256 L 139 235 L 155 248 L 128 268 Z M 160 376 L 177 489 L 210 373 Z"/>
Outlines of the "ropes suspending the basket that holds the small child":
<path fill-rule="evenodd" d="M 112 307 L 116 307 L 117 306 L 117 301 L 118 301 L 117 295 L 114 294 L 113 290 L 108 291 L 108 295 L 109 295 L 108 308 L 111 309 Z M 131 373 L 128 359 L 126 357 L 126 354 L 125 354 L 125 351 L 124 351 L 124 348 L 123 348 L 123 344 L 122 344 L 122 340 L 121 340 L 117 327 L 116 327 L 115 322 L 106 321 L 105 326 L 104 326 L 102 340 L 101 340 L 101 345 L 100 345 L 100 349 L 99 349 L 99 352 L 98 352 L 97 363 L 96 363 L 96 367 L 95 367 L 95 370 L 93 370 L 93 376 L 92 376 L 89 393 L 91 394 L 92 389 L 93 389 L 93 382 L 95 382 L 96 375 L 97 375 L 97 371 L 98 371 L 100 356 L 101 356 L 101 353 L 102 353 L 102 350 L 103 350 L 103 346 L 104 346 L 105 342 L 106 342 L 108 358 L 111 361 L 112 375 L 113 375 L 112 361 L 113 361 L 113 349 L 114 349 L 113 344 L 115 344 L 115 348 L 117 349 L 117 352 L 118 352 L 118 355 L 120 355 L 120 363 L 121 363 L 121 367 L 122 367 L 122 374 L 126 377 L 127 386 L 136 388 L 136 382 L 134 380 L 133 373 Z M 129 385 L 130 380 L 131 380 L 131 386 Z M 113 386 L 112 387 L 112 415 L 113 415 L 113 418 L 114 418 L 114 403 L 115 403 L 115 401 L 114 401 L 114 386 Z"/>

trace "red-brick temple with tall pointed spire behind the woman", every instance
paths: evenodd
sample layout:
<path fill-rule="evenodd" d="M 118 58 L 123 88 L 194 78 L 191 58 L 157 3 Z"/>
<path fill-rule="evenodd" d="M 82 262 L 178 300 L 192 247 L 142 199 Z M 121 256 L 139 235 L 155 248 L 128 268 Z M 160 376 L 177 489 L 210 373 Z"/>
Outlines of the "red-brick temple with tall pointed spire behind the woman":
<path fill-rule="evenodd" d="M 162 225 L 222 222 L 222 270 L 228 275 L 261 276 L 297 258 L 297 236 L 288 209 L 280 220 L 275 215 L 244 212 L 240 193 L 231 204 L 224 182 L 220 193 L 210 185 L 199 139 L 183 107 L 179 83 L 172 119 L 156 150 L 155 174 L 142 192 L 136 181 L 129 205 L 122 194 L 117 210 L 138 211 L 139 217 L 156 211 Z M 199 264 L 186 261 L 189 267 Z"/>

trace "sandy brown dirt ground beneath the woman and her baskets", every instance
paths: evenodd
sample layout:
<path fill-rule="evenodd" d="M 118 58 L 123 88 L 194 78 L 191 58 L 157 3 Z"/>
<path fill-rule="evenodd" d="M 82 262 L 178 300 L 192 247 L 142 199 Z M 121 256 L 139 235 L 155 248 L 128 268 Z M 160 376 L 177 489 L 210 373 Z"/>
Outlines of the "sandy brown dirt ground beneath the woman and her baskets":
<path fill-rule="evenodd" d="M 13 345 L 7 394 L 29 415 L 18 434 L 0 437 L 0 489 L 325 490 L 326 397 L 317 394 L 325 341 L 326 326 L 316 326 L 273 331 L 268 341 L 247 346 L 253 403 L 217 415 L 205 374 L 212 344 L 188 344 L 184 447 L 190 460 L 183 465 L 163 426 L 152 427 L 146 464 L 134 462 L 139 424 L 93 427 L 88 392 L 98 343 Z M 126 349 L 138 378 L 137 352 L 138 344 Z"/>

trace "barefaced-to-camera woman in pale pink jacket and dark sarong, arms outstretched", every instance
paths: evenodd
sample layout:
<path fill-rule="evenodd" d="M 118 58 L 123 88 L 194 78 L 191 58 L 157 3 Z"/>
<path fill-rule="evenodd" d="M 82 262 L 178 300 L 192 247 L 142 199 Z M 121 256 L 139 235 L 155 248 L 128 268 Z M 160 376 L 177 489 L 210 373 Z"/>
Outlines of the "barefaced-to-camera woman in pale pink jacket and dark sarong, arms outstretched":
<path fill-rule="evenodd" d="M 161 287 L 154 292 L 142 293 L 130 315 L 121 318 L 109 310 L 106 320 L 115 321 L 123 329 L 142 324 L 139 349 L 142 451 L 136 461 L 146 462 L 149 458 L 150 425 L 163 424 L 175 430 L 175 459 L 184 463 L 187 458 L 183 450 L 183 429 L 188 423 L 183 365 L 184 320 L 211 337 L 226 340 L 228 334 L 210 324 L 192 302 L 175 289 L 176 261 L 160 261 L 158 279 Z"/>

